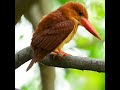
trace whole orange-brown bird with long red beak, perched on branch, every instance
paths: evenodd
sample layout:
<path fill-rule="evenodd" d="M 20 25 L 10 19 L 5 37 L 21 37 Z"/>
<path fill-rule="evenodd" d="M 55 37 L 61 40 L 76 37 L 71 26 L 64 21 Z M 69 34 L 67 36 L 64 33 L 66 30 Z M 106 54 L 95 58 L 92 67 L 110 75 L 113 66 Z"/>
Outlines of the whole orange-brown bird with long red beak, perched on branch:
<path fill-rule="evenodd" d="M 88 21 L 88 13 L 85 7 L 80 3 L 68 2 L 45 16 L 38 24 L 32 37 L 31 48 L 34 55 L 27 71 L 34 63 L 51 52 L 63 56 L 67 55 L 61 49 L 65 43 L 72 39 L 78 25 L 85 27 L 91 34 L 101 39 Z"/>

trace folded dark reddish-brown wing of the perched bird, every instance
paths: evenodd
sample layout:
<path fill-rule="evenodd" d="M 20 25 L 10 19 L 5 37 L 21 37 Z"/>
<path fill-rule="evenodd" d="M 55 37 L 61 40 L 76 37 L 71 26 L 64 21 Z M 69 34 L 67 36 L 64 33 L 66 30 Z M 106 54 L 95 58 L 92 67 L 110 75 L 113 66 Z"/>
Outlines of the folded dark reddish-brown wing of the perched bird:
<path fill-rule="evenodd" d="M 53 51 L 67 38 L 73 28 L 74 22 L 72 20 L 54 24 L 50 28 L 35 34 L 32 38 L 31 46 L 34 49 Z"/>

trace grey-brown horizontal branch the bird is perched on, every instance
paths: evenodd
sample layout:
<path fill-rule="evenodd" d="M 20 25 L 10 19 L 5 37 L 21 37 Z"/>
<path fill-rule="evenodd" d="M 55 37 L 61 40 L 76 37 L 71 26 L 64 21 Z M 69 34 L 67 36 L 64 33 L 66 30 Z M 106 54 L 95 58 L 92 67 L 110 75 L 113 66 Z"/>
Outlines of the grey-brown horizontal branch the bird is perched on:
<path fill-rule="evenodd" d="M 26 47 L 15 54 L 15 69 L 27 62 L 32 58 L 33 52 L 30 47 Z M 92 70 L 97 72 L 105 72 L 104 60 L 78 57 L 78 56 L 65 56 L 59 60 L 60 55 L 53 58 L 53 54 L 48 54 L 40 61 L 41 64 L 48 66 L 73 68 L 79 70 Z"/>

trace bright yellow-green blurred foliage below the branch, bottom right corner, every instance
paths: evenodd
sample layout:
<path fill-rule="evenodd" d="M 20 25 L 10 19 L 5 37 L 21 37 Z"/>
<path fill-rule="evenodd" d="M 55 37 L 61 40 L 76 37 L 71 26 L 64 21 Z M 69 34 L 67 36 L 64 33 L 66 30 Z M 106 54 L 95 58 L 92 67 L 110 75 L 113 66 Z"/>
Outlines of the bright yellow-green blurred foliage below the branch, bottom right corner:
<path fill-rule="evenodd" d="M 72 90 L 105 90 L 104 78 L 104 73 L 75 69 L 68 69 L 65 76 Z"/>

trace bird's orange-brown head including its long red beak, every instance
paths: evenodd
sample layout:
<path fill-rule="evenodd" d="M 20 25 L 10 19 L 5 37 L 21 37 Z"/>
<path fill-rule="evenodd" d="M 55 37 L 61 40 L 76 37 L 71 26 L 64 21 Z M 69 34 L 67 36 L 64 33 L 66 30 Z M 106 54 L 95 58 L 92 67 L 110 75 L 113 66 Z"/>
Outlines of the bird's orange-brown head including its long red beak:
<path fill-rule="evenodd" d="M 89 22 L 87 10 L 82 4 L 68 2 L 61 9 L 68 18 L 76 20 L 79 25 L 84 26 L 91 34 L 101 40 L 99 34 Z"/>

